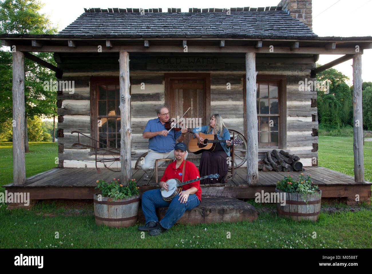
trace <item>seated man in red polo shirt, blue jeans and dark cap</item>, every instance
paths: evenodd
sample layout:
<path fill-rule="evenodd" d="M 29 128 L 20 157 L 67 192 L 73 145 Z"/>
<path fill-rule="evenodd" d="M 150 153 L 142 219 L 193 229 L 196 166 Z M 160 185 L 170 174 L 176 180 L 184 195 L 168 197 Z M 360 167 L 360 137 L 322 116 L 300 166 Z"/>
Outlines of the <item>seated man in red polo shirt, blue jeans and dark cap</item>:
<path fill-rule="evenodd" d="M 186 155 L 186 145 L 177 143 L 174 147 L 174 157 L 176 161 L 170 163 L 161 177 L 159 186 L 166 190 L 169 185 L 167 180 L 176 178 L 180 182 L 199 178 L 198 168 L 190 161 L 184 160 Z M 183 180 L 182 180 L 183 179 Z M 201 201 L 202 190 L 199 180 L 182 186 L 182 191 L 174 196 L 171 202 L 163 199 L 160 189 L 148 190 L 142 194 L 142 211 L 146 218 L 146 224 L 139 226 L 138 230 L 149 231 L 151 236 L 156 236 L 170 229 L 174 223 L 183 215 L 186 210 L 199 205 Z M 155 213 L 155 207 L 168 207 L 164 218 L 158 221 Z"/>

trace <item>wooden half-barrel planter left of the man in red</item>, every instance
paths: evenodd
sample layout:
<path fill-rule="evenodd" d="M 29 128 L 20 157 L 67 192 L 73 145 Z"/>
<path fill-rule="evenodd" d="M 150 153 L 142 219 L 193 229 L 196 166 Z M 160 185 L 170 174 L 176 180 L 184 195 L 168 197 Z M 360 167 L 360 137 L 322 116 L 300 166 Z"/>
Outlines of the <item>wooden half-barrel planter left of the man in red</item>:
<path fill-rule="evenodd" d="M 133 196 L 112 201 L 112 198 L 102 197 L 98 201 L 98 194 L 94 194 L 94 218 L 97 226 L 105 224 L 111 227 L 128 227 L 137 222 L 140 196 Z"/>

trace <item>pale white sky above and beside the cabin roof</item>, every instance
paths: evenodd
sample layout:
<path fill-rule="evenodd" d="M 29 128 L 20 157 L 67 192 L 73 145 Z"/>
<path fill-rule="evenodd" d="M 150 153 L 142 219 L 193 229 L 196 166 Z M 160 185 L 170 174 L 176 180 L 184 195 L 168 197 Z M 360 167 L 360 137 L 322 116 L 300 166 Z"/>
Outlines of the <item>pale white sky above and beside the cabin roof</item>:
<path fill-rule="evenodd" d="M 182 12 L 188 12 L 189 7 L 197 8 L 228 8 L 228 7 L 266 7 L 277 6 L 280 0 L 246 0 L 246 1 L 218 1 L 218 0 L 159 0 L 148 1 L 139 0 L 135 3 L 118 0 L 40 0 L 45 3 L 43 13 L 50 15 L 52 22 L 57 25 L 58 31 L 64 29 L 67 25 L 84 13 L 85 8 L 99 7 L 107 9 L 108 7 L 118 8 L 158 8 L 163 12 L 169 7 L 181 8 Z M 154 4 L 155 3 L 155 4 Z M 335 4 L 336 3 L 336 4 Z M 334 4 L 334 5 L 333 5 Z M 333 6 L 332 6 L 333 5 Z M 331 7 L 330 7 L 331 6 Z M 329 9 L 327 9 L 329 7 Z M 325 12 L 323 12 L 327 9 Z M 312 0 L 313 31 L 319 36 L 372 36 L 371 23 L 372 0 Z M 323 12 L 323 13 L 321 13 Z M 321 13 L 321 15 L 319 15 Z M 317 16 L 319 15 L 319 16 Z M 341 55 L 321 55 L 318 63 L 325 64 Z M 334 68 L 348 76 L 352 81 L 352 60 L 346 61 Z M 362 79 L 365 82 L 372 82 L 372 49 L 365 50 L 362 56 Z M 351 84 L 351 83 L 349 83 Z"/>

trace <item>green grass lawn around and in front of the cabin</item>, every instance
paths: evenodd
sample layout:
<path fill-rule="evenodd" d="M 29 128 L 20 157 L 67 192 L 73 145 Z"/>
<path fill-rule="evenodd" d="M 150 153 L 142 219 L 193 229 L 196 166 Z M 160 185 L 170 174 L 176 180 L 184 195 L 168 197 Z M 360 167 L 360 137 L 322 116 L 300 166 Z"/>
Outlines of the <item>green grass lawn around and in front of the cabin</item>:
<path fill-rule="evenodd" d="M 353 175 L 352 142 L 349 137 L 319 136 L 319 165 Z M 30 143 L 30 151 L 27 177 L 55 166 L 57 144 Z M 365 142 L 364 154 L 365 178 L 371 181 L 372 142 Z M 0 155 L 4 185 L 12 182 L 9 143 L 0 144 Z M 157 237 L 145 232 L 144 239 L 137 225 L 96 226 L 92 202 L 77 207 L 77 203 L 44 201 L 29 211 L 9 211 L 0 204 L 0 248 L 372 248 L 371 205 L 330 205 L 322 200 L 319 220 L 312 223 L 279 218 L 272 204 L 248 202 L 259 211 L 252 223 L 175 225 Z"/>

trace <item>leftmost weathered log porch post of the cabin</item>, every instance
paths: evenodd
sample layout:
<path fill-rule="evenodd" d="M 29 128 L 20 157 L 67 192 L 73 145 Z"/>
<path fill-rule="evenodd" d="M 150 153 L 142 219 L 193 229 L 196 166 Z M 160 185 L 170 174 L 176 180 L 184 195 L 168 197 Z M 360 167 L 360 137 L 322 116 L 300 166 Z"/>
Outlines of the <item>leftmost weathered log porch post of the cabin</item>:
<path fill-rule="evenodd" d="M 26 182 L 25 163 L 25 56 L 13 52 L 13 185 Z"/>

